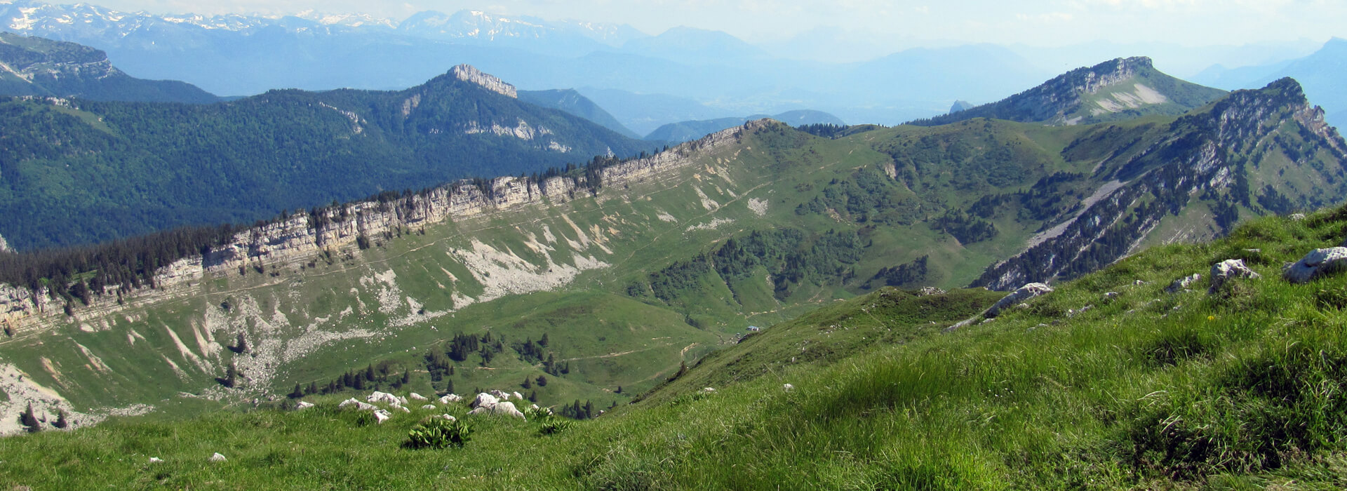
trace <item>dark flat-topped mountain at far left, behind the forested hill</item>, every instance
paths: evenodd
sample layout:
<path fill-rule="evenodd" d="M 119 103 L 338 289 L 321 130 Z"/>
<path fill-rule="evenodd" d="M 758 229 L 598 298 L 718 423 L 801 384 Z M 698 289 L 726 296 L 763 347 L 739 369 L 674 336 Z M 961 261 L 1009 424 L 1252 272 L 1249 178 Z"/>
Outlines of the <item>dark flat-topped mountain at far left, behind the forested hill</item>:
<path fill-rule="evenodd" d="M 0 32 L 0 96 L 94 101 L 217 102 L 190 83 L 127 75 L 102 51 L 75 43 Z"/>

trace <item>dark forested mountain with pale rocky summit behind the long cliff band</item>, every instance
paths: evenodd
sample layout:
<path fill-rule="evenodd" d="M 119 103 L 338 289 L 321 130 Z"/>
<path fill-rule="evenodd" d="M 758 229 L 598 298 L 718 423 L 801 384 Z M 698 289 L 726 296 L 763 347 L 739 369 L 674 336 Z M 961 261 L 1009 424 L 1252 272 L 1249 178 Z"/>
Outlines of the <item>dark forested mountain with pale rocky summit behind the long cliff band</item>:
<path fill-rule="evenodd" d="M 12 159 L 0 209 L 16 218 L 0 234 L 20 250 L 251 223 L 655 147 L 519 101 L 470 66 L 405 90 L 273 90 L 210 105 L 0 100 L 0 128 Z"/>

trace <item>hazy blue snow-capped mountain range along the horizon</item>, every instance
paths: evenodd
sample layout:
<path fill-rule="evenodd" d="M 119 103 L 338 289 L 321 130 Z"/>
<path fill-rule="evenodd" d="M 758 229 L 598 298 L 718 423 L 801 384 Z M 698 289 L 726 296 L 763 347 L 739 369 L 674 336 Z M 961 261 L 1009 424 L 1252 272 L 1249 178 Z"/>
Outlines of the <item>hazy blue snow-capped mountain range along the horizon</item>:
<path fill-rule="evenodd" d="M 683 28 L 649 36 L 629 26 L 474 11 L 420 12 L 389 22 L 314 12 L 151 15 L 19 0 L 0 4 L 0 28 L 92 46 L 132 75 L 180 79 L 221 96 L 277 87 L 401 89 L 445 66 L 470 63 L 527 90 L 667 94 L 722 110 L 659 120 L 648 128 L 622 121 L 638 135 L 669 122 L 796 109 L 896 124 L 938 114 L 955 98 L 991 100 L 1048 74 L 993 46 L 820 63 L 770 56 L 715 31 Z"/>

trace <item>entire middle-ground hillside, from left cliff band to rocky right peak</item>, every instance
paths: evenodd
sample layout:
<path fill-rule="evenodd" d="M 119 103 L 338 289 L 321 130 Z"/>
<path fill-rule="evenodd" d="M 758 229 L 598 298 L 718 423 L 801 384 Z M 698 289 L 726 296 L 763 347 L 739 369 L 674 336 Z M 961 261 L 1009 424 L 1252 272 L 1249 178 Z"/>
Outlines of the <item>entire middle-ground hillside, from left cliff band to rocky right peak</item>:
<path fill-rule="evenodd" d="M 607 406 L 750 326 L 884 287 L 1076 277 L 1343 186 L 1344 144 L 1292 81 L 1180 118 L 806 129 L 822 136 L 754 121 L 644 159 L 0 257 L 16 285 L 0 291 L 0 367 L 32 383 L 20 394 L 58 394 L 11 400 L 82 421 L 296 383 L 515 387 Z M 1044 250 L 1083 253 L 1033 262 Z M 376 377 L 354 383 L 362 369 Z"/>

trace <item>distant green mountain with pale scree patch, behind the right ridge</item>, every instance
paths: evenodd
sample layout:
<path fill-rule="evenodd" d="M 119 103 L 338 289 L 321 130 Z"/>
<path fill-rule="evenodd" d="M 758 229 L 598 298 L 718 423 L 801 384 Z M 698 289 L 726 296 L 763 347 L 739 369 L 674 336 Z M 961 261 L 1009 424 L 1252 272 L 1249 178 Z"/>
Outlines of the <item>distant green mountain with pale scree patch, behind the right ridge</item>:
<path fill-rule="evenodd" d="M 1165 75 L 1150 58 L 1118 58 L 1071 70 L 998 102 L 915 121 L 942 125 L 975 117 L 1052 125 L 1094 124 L 1145 114 L 1177 116 L 1226 91 Z"/>

